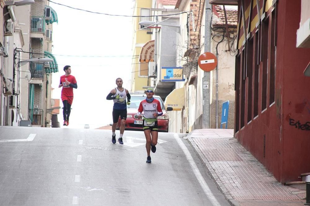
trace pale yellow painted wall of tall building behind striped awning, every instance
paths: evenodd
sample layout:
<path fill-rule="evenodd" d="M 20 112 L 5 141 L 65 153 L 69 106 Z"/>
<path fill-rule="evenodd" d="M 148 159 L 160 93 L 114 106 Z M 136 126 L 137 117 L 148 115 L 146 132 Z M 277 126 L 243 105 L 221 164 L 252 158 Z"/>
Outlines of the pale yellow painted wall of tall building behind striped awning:
<path fill-rule="evenodd" d="M 135 9 L 133 15 L 140 15 L 141 8 L 151 8 L 152 0 L 136 0 Z M 139 17 L 133 18 L 133 42 L 132 42 L 132 92 L 144 91 L 143 86 L 148 85 L 147 77 L 139 77 L 139 55 L 141 47 L 149 40 L 151 40 L 150 34 L 147 34 L 147 31 L 150 30 L 138 30 L 139 29 Z M 138 30 L 138 31 L 136 31 Z M 139 45 L 137 45 L 139 44 Z"/>

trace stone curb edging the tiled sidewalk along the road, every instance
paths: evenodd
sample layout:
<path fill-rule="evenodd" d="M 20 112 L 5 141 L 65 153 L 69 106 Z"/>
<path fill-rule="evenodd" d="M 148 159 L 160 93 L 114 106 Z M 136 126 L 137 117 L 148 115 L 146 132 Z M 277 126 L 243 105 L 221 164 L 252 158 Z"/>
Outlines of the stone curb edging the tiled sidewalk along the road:
<path fill-rule="evenodd" d="M 198 146 L 196 145 L 196 143 L 194 142 L 194 140 L 191 138 L 191 134 L 193 133 L 193 131 L 191 131 L 188 135 L 187 135 L 187 140 L 188 142 L 192 145 L 192 147 L 194 148 L 194 150 L 196 151 L 199 159 L 203 162 L 204 166 L 206 167 L 207 171 L 209 172 L 209 174 L 211 175 L 211 177 L 213 178 L 213 180 L 215 181 L 217 187 L 219 188 L 219 190 L 222 192 L 222 194 L 225 196 L 225 199 L 229 202 L 230 205 L 232 206 L 240 206 L 238 201 L 234 200 L 230 194 L 230 192 L 228 190 L 226 190 L 226 188 L 224 187 L 224 184 L 220 181 L 219 176 L 214 172 L 213 168 L 211 167 L 211 165 L 209 164 L 209 161 L 206 159 L 206 157 L 204 156 L 204 154 L 201 152 L 201 150 L 198 148 Z"/>

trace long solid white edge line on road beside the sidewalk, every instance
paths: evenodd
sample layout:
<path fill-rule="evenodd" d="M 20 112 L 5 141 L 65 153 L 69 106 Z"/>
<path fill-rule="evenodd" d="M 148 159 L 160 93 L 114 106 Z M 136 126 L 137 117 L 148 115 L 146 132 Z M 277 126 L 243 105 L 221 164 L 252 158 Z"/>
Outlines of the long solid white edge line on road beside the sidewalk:
<path fill-rule="evenodd" d="M 174 133 L 173 136 L 174 136 L 175 140 L 177 141 L 177 143 L 179 144 L 179 146 L 181 147 L 181 149 L 183 150 L 183 152 L 186 156 L 186 159 L 188 160 L 189 164 L 191 165 L 191 168 L 192 168 L 198 182 L 200 183 L 203 191 L 207 195 L 207 197 L 210 200 L 210 202 L 212 203 L 212 205 L 220 206 L 219 202 L 216 200 L 215 196 L 213 195 L 213 193 L 210 190 L 209 186 L 207 185 L 206 181 L 202 177 L 202 175 L 201 175 L 191 153 L 188 151 L 188 148 L 185 146 L 185 144 L 182 142 L 182 140 L 179 138 L 179 136 L 177 134 Z"/>

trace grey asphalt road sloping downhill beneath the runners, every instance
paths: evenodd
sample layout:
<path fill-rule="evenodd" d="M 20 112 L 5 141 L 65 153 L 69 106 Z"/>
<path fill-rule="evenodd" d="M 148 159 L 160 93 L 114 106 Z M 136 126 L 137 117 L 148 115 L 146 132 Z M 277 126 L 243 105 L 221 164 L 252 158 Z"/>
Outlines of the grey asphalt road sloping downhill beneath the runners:
<path fill-rule="evenodd" d="M 229 205 L 186 140 L 142 131 L 0 127 L 0 205 Z M 116 131 L 117 138 L 119 131 Z"/>

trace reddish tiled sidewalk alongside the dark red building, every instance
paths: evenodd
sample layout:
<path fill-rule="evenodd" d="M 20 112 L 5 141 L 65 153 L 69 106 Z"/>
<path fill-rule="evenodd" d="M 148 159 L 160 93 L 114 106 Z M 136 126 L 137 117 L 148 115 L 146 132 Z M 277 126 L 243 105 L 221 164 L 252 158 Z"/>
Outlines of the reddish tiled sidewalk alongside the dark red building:
<path fill-rule="evenodd" d="M 248 152 L 230 129 L 188 134 L 219 189 L 232 205 L 304 205 L 306 191 L 282 185 Z"/>

